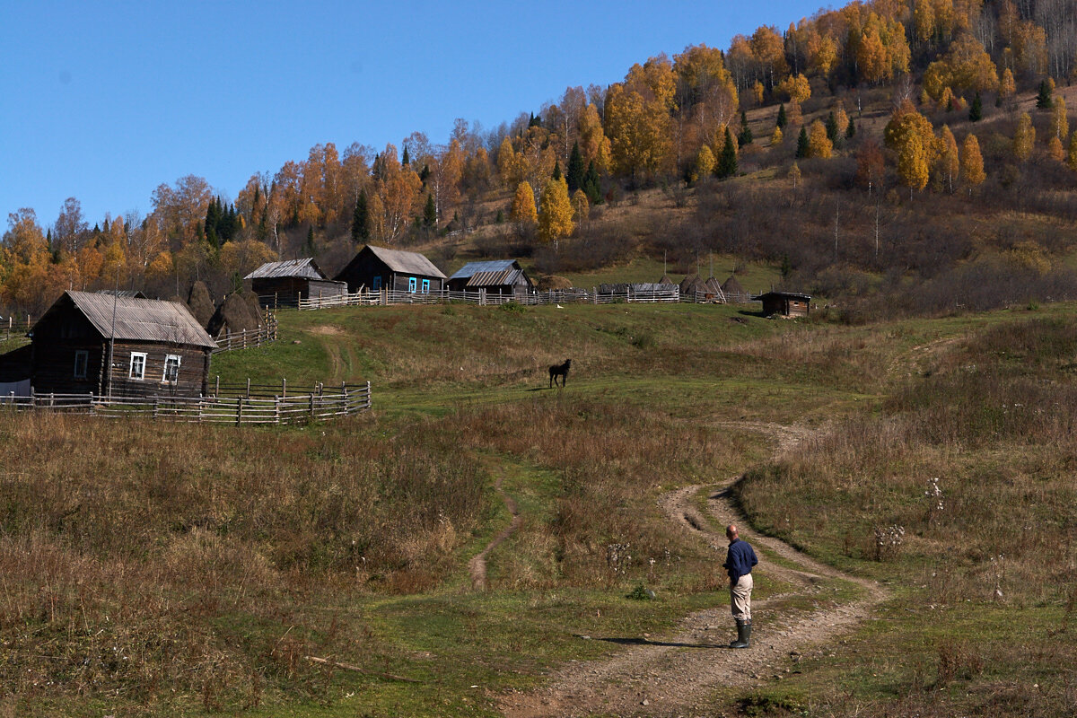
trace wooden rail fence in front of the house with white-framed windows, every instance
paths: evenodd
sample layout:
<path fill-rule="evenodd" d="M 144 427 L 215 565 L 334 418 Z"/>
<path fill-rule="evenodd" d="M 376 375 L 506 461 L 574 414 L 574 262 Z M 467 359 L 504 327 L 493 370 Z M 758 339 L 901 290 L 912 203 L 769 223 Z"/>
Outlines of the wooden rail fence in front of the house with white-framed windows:
<path fill-rule="evenodd" d="M 294 424 L 369 411 L 370 382 L 291 396 L 0 396 L 0 411 L 64 411 L 94 417 L 218 424 Z"/>

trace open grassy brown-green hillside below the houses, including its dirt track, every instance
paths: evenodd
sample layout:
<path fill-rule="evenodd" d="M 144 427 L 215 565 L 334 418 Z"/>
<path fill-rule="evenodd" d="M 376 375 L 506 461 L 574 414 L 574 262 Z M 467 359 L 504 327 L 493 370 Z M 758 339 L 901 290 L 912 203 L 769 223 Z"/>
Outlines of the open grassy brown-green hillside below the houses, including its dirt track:
<path fill-rule="evenodd" d="M 593 670 L 654 699 L 605 684 L 641 715 L 1072 715 L 1075 311 L 858 327 L 702 306 L 283 311 L 277 344 L 214 371 L 368 379 L 372 416 L 0 413 L 18 467 L 0 487 L 4 705 L 530 715 L 528 696 L 563 698 L 531 692 L 559 690 L 550 672 L 584 687 Z M 568 385 L 547 389 L 565 356 Z M 723 687 L 693 666 L 727 661 L 699 663 L 730 633 L 710 548 L 727 515 L 707 518 L 729 477 L 752 531 L 825 566 L 758 538 L 761 652 Z M 880 550 L 891 525 L 904 539 Z M 641 586 L 655 600 L 627 597 Z M 820 620 L 845 628 L 816 643 Z M 666 667 L 633 673 L 658 649 Z M 654 677 L 677 675 L 700 680 L 659 702 Z"/>

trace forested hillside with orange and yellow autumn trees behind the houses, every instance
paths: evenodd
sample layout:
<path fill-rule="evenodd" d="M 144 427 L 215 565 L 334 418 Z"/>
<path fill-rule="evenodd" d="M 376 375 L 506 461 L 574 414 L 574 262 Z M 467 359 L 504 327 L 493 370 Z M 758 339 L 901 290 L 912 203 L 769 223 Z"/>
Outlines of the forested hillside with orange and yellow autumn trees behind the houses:
<path fill-rule="evenodd" d="M 365 241 L 542 273 L 721 252 L 845 319 L 1077 296 L 1074 3 L 875 0 L 700 40 L 492 130 L 316 144 L 235 197 L 188 175 L 148 216 L 17 209 L 0 309 L 39 315 L 68 287 L 220 295 L 275 258 L 333 271 Z"/>

